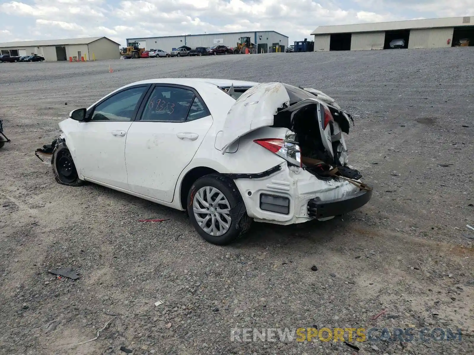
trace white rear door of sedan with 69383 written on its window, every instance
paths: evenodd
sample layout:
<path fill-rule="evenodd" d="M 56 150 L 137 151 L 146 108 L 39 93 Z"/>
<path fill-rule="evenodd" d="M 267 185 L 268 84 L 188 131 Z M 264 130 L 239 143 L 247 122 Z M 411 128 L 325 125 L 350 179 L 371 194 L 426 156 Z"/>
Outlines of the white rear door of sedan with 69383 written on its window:
<path fill-rule="evenodd" d="M 156 85 L 141 117 L 127 133 L 125 160 L 130 190 L 173 202 L 178 177 L 211 125 L 212 116 L 195 91 Z"/>

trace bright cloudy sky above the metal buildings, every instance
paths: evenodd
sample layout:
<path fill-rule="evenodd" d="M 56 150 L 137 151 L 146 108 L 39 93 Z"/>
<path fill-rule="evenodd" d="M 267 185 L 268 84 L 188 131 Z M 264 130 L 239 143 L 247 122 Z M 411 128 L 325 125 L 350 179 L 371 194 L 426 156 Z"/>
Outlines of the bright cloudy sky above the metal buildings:
<path fill-rule="evenodd" d="M 0 42 L 277 31 L 289 42 L 322 25 L 474 16 L 474 0 L 0 0 Z"/>

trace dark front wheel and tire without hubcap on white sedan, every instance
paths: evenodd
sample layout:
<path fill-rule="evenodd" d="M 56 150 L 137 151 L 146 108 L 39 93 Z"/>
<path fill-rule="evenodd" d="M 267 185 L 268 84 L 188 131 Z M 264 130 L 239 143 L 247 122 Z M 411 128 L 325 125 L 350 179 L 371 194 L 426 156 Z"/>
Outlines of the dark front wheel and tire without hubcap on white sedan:
<path fill-rule="evenodd" d="M 71 152 L 65 142 L 56 144 L 51 157 L 51 166 L 55 174 L 55 180 L 62 185 L 81 186 L 84 181 L 77 174 Z"/>

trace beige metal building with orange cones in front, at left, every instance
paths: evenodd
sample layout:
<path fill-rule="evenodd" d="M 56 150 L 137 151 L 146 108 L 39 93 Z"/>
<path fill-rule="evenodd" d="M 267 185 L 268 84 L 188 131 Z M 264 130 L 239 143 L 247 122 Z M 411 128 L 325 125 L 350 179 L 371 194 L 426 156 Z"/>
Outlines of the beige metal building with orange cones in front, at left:
<path fill-rule="evenodd" d="M 119 59 L 120 44 L 107 37 L 54 39 L 0 43 L 1 54 L 41 55 L 46 61 L 66 61 L 69 57 L 87 60 Z"/>

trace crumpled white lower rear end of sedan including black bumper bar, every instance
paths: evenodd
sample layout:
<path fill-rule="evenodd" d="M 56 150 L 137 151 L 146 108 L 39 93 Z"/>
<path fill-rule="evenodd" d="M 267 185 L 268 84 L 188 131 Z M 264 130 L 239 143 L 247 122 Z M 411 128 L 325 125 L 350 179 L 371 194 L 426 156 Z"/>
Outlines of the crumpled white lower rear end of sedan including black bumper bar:
<path fill-rule="evenodd" d="M 304 169 L 289 169 L 286 162 L 277 167 L 260 174 L 227 174 L 237 185 L 247 214 L 255 222 L 287 225 L 325 220 L 358 209 L 372 196 L 372 191 L 361 191 L 346 180 L 319 180 Z M 289 198 L 289 212 L 263 210 L 262 194 Z"/>

